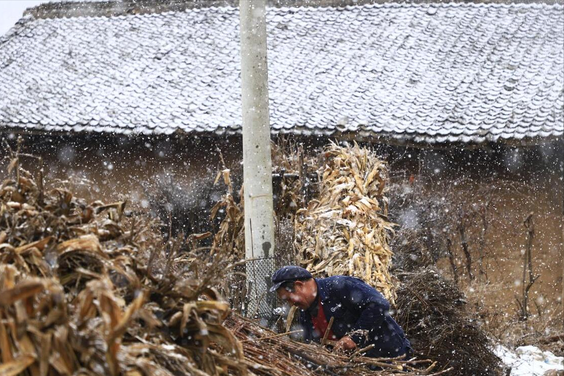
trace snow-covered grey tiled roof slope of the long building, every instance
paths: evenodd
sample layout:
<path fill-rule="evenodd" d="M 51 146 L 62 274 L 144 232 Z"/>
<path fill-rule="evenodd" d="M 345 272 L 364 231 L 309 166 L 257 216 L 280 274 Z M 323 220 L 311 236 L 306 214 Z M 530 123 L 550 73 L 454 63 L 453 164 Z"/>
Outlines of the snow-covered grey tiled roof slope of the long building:
<path fill-rule="evenodd" d="M 269 8 L 272 132 L 479 143 L 561 136 L 564 8 Z M 241 129 L 239 12 L 34 19 L 0 38 L 0 126 Z"/>

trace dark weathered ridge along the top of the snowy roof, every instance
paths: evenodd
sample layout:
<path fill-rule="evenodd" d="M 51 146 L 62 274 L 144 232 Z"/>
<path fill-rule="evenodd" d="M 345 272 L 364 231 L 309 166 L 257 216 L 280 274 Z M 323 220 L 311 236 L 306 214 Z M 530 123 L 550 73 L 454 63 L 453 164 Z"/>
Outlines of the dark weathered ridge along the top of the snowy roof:
<path fill-rule="evenodd" d="M 563 7 L 564 0 L 545 0 L 544 2 L 528 3 L 515 0 L 492 0 L 468 2 L 459 1 L 428 1 L 390 2 L 389 0 L 267 0 L 268 7 L 275 8 L 337 8 L 343 9 L 357 6 L 376 7 L 421 7 L 421 6 L 468 6 L 468 7 Z M 190 9 L 238 7 L 239 0 L 86 0 L 86 1 L 51 1 L 30 7 L 24 11 L 24 16 L 30 15 L 34 19 L 57 19 L 74 17 L 116 17 L 146 14 L 161 14 L 165 12 L 183 12 Z"/>

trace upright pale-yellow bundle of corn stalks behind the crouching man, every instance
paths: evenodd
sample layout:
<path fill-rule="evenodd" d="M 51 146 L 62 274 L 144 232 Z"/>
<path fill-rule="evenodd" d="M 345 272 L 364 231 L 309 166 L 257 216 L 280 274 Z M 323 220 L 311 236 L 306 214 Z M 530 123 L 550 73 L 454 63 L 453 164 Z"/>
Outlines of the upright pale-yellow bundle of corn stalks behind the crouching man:
<path fill-rule="evenodd" d="M 331 143 L 324 157 L 319 197 L 296 216 L 299 262 L 314 276 L 362 278 L 394 304 L 388 246 L 394 224 L 387 221 L 386 165 L 356 143 Z"/>

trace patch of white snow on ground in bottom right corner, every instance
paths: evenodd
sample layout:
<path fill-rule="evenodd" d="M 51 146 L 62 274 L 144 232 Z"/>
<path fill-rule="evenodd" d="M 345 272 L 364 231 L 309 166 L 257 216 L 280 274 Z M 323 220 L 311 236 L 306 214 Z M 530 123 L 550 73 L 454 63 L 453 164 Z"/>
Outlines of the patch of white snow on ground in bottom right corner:
<path fill-rule="evenodd" d="M 512 368 L 511 376 L 542 376 L 551 369 L 564 370 L 564 357 L 536 346 L 521 346 L 512 351 L 499 344 L 493 352 Z"/>

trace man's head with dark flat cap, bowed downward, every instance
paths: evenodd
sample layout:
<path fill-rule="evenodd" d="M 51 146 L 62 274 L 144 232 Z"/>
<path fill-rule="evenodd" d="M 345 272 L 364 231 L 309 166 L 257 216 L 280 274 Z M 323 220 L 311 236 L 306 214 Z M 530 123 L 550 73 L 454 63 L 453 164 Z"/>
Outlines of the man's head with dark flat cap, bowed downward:
<path fill-rule="evenodd" d="M 278 298 L 288 301 L 300 309 L 307 309 L 314 302 L 317 284 L 310 272 L 298 266 L 285 266 L 272 275 L 270 291 Z"/>

